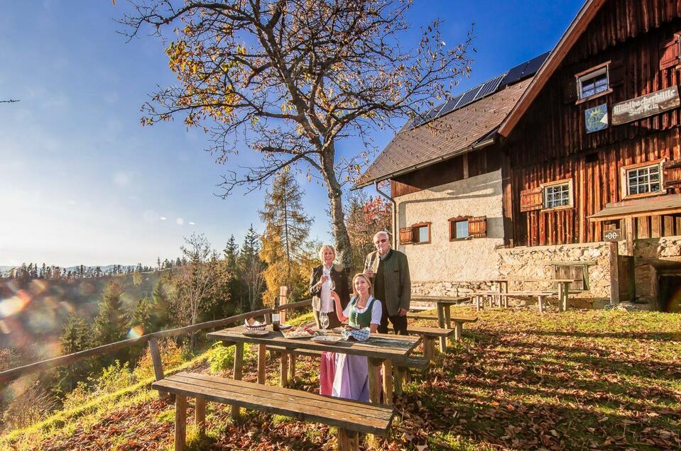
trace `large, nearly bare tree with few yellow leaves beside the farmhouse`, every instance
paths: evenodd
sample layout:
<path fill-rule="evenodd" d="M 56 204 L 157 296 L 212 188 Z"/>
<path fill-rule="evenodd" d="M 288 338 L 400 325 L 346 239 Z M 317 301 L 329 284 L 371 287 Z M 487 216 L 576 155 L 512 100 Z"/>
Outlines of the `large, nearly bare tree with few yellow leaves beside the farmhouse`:
<path fill-rule="evenodd" d="M 157 35 L 175 27 L 166 53 L 180 86 L 161 89 L 143 106 L 142 123 L 180 114 L 212 134 L 210 150 L 225 162 L 244 136 L 260 164 L 229 171 L 235 186 L 258 189 L 295 166 L 328 191 L 332 230 L 345 265 L 352 251 L 344 224 L 342 186 L 367 152 L 347 158 L 337 143 L 391 127 L 445 96 L 469 72 L 469 33 L 447 46 L 440 21 L 405 47 L 410 0 L 133 0 L 129 38 L 151 24 Z M 412 39 L 413 41 L 413 39 Z M 243 134 L 242 134 L 243 133 Z"/>

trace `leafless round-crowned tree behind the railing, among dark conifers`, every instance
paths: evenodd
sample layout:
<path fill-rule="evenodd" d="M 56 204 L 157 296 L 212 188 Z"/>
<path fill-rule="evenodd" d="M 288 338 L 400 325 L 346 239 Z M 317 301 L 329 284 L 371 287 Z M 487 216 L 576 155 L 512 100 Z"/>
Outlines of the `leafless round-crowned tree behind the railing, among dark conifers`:
<path fill-rule="evenodd" d="M 180 247 L 187 263 L 178 268 L 175 309 L 182 325 L 196 324 L 200 313 L 213 300 L 212 294 L 219 281 L 220 265 L 217 253 L 211 250 L 205 235 L 192 233 Z M 196 343 L 192 333 L 190 346 Z"/>

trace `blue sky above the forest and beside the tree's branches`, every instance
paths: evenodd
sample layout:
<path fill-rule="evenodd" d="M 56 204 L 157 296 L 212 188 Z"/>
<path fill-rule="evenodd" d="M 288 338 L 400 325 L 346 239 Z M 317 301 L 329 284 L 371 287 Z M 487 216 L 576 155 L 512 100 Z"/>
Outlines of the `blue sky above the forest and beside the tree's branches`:
<path fill-rule="evenodd" d="M 409 18 L 415 29 L 444 19 L 448 44 L 475 23 L 463 91 L 550 50 L 582 3 L 422 0 Z M 263 192 L 215 196 L 227 167 L 204 151 L 203 133 L 181 121 L 140 126 L 148 94 L 175 79 L 160 40 L 126 43 L 116 33 L 114 19 L 128 8 L 124 0 L 4 2 L 0 99 L 21 101 L 0 104 L 0 265 L 151 265 L 179 255 L 192 232 L 222 249 L 231 234 L 241 242 L 251 223 L 261 229 Z M 374 142 L 381 148 L 391 136 L 376 132 Z M 256 158 L 243 146 L 227 166 Z M 325 189 L 300 182 L 316 219 L 312 235 L 329 241 Z"/>

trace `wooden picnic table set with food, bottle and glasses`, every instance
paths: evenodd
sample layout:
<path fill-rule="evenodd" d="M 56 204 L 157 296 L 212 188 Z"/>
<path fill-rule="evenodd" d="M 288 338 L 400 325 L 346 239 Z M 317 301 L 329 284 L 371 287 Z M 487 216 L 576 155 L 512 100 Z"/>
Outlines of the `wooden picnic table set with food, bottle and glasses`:
<path fill-rule="evenodd" d="M 362 355 L 367 358 L 370 369 L 383 366 L 383 392 L 385 403 L 391 404 L 393 399 L 393 359 L 405 360 L 414 348 L 421 342 L 419 336 L 413 335 L 388 335 L 372 333 L 369 340 L 347 340 L 337 343 L 317 343 L 310 338 L 285 338 L 283 333 L 274 332 L 268 325 L 268 335 L 259 337 L 247 337 L 244 335 L 244 325 L 235 328 L 218 330 L 207 334 L 212 340 L 222 340 L 224 343 L 234 343 L 234 379 L 241 379 L 241 369 L 244 361 L 244 343 L 258 345 L 258 384 L 265 384 L 265 357 L 268 346 L 284 347 L 290 352 L 293 350 L 319 350 L 327 352 L 342 352 L 349 355 Z M 332 330 L 327 334 L 334 335 Z M 337 334 L 336 334 L 337 335 Z M 281 353 L 281 382 L 286 384 L 288 377 L 288 352 Z M 379 403 L 381 399 L 381 384 L 378 381 L 378 372 L 369 371 L 369 399 L 372 403 Z"/>

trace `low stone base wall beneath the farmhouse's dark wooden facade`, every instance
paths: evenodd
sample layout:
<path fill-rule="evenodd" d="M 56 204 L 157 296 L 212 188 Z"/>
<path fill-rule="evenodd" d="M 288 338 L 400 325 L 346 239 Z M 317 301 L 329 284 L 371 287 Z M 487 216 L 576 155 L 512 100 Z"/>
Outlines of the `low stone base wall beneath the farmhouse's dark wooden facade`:
<path fill-rule="evenodd" d="M 513 247 L 497 250 L 498 272 L 508 279 L 553 279 L 556 264 L 589 262 L 589 291 L 570 294 L 570 306 L 601 308 L 610 301 L 610 251 L 608 243 Z M 545 282 L 511 282 L 509 289 L 547 289 Z M 551 287 L 552 288 L 552 287 Z"/>

